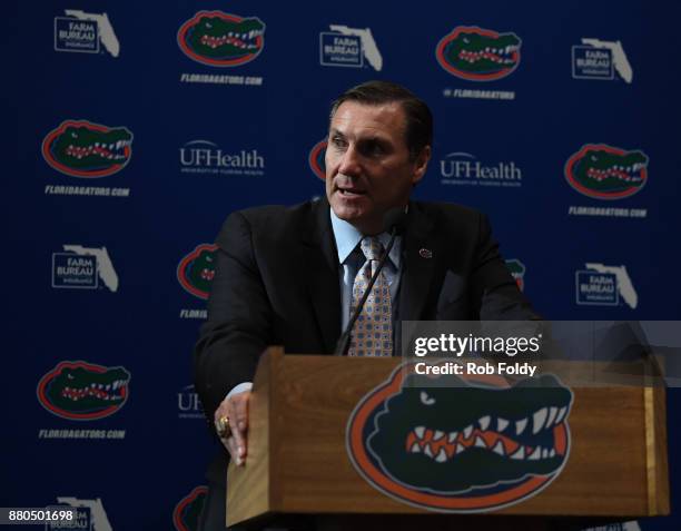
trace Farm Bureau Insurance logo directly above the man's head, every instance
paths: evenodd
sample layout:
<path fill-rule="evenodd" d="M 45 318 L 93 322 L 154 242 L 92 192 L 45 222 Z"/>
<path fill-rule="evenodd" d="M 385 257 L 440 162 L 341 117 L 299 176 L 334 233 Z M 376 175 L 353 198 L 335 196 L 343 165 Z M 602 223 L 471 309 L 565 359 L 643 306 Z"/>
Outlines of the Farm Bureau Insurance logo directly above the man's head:
<path fill-rule="evenodd" d="M 330 24 L 319 33 L 319 65 L 325 67 L 364 67 L 364 59 L 376 71 L 383 69 L 383 57 L 371 28 Z"/>

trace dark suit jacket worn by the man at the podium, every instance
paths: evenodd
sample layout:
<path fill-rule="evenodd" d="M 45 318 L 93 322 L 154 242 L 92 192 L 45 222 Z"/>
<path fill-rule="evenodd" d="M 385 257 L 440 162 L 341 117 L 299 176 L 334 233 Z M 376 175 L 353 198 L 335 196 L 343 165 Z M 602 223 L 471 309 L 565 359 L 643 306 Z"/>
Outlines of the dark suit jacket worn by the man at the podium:
<path fill-rule="evenodd" d="M 208 321 L 195 350 L 207 419 L 238 383 L 253 381 L 268 345 L 333 353 L 340 335 L 339 264 L 326 199 L 231 214 L 217 238 Z M 398 318 L 539 318 L 499 254 L 487 218 L 456 205 L 409 204 Z M 430 250 L 428 254 L 422 249 Z M 209 478 L 224 482 L 215 463 Z"/>

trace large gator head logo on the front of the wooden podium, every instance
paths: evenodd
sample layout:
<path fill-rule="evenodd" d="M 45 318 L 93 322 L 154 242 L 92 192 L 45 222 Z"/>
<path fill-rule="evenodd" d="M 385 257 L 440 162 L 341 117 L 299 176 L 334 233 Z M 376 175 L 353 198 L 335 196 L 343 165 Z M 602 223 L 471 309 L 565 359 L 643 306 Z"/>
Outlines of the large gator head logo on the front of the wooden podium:
<path fill-rule="evenodd" d="M 348 455 L 377 490 L 437 512 L 485 512 L 526 500 L 562 471 L 572 392 L 555 376 L 499 376 L 446 387 L 402 365 L 355 407 Z M 438 381 L 437 384 L 441 382 Z"/>

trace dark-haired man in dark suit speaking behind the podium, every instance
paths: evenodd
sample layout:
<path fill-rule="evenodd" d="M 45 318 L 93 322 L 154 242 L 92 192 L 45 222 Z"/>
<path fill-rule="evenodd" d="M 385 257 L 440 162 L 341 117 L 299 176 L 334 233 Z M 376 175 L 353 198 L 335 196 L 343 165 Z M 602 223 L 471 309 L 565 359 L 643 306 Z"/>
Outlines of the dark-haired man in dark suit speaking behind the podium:
<path fill-rule="evenodd" d="M 237 212 L 225 223 L 195 371 L 206 414 L 237 464 L 247 459 L 259 355 L 268 345 L 296 354 L 334 352 L 356 306 L 357 278 L 374 260 L 365 243 L 383 252 L 389 239 L 384 216 L 395 208 L 406 212 L 405 228 L 379 275 L 388 299 L 382 306 L 388 317 L 381 317 L 387 319 L 382 345 L 388 354 L 401 321 L 536 317 L 484 215 L 409 201 L 431 159 L 432 131 L 430 109 L 405 88 L 383 81 L 354 87 L 332 107 L 326 198 Z M 353 340 L 351 355 L 362 352 Z M 224 524 L 225 466 L 223 453 L 209 469 L 205 529 L 211 518 Z"/>

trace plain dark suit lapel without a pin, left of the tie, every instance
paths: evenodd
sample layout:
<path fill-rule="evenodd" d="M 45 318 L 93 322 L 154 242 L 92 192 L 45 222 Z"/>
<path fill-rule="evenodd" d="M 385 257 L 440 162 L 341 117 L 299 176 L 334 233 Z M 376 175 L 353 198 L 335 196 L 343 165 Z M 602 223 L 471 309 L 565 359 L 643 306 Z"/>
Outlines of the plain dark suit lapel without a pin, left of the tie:
<path fill-rule="evenodd" d="M 303 233 L 305 264 L 299 271 L 307 276 L 303 281 L 308 287 L 326 352 L 332 353 L 340 335 L 340 289 L 338 253 L 326 199 L 312 206 L 309 230 Z"/>

